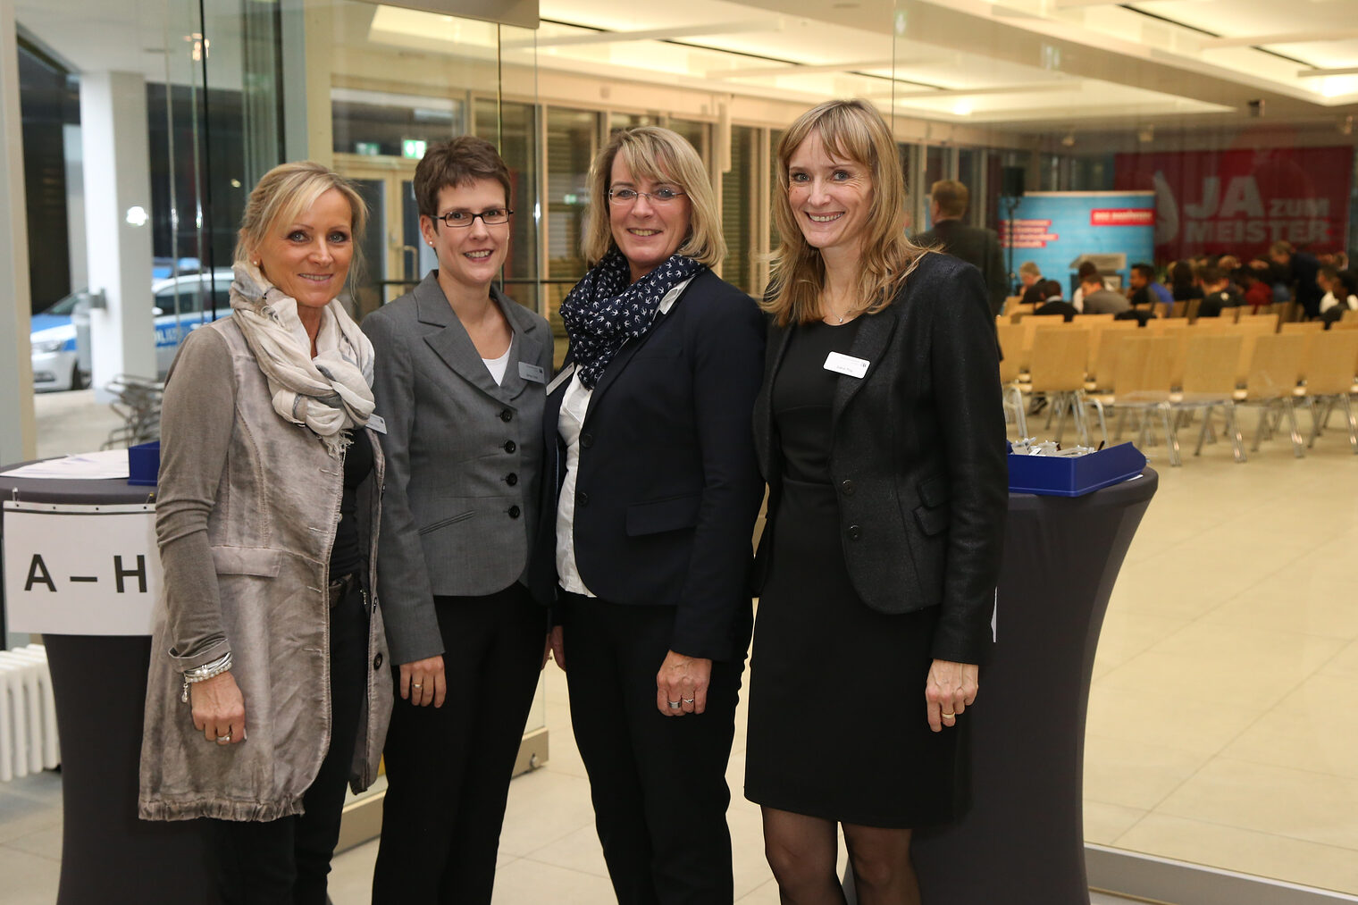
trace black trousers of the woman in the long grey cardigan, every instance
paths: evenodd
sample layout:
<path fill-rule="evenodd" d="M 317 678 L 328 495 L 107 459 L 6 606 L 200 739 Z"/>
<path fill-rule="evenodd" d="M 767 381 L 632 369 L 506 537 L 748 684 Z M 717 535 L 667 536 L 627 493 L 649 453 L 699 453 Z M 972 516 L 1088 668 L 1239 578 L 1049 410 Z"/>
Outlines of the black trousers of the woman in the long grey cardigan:
<path fill-rule="evenodd" d="M 325 905 L 367 667 L 368 607 L 356 580 L 330 609 L 330 750 L 301 799 L 304 813 L 263 823 L 208 821 L 210 868 L 227 905 Z"/>

